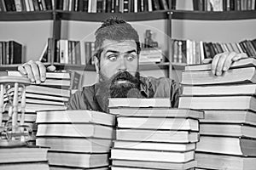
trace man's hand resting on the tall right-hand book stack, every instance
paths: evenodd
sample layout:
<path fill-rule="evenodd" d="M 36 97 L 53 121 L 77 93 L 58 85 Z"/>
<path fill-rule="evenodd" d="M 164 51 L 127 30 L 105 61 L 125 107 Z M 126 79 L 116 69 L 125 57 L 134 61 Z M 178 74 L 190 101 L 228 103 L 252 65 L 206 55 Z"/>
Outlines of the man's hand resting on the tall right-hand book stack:
<path fill-rule="evenodd" d="M 204 64 L 212 62 L 212 74 L 220 76 L 224 71 L 228 71 L 230 69 L 230 65 L 239 59 L 247 58 L 247 54 L 236 52 L 224 52 L 221 54 L 216 54 L 213 59 L 204 59 L 202 62 Z"/>

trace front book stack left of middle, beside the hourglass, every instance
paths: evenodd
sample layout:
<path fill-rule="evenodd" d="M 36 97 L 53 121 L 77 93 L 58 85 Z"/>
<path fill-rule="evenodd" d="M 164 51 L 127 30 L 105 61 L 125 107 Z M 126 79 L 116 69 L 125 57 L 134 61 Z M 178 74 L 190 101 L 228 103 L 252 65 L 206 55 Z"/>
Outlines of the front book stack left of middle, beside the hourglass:
<path fill-rule="evenodd" d="M 99 111 L 38 111 L 38 146 L 51 169 L 107 170 L 115 116 Z"/>

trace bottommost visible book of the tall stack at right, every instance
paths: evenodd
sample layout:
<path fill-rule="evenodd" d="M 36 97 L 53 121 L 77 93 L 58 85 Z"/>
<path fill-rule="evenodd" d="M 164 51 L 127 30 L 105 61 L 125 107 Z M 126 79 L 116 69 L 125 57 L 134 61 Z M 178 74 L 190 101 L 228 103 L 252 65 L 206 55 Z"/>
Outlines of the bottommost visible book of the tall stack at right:
<path fill-rule="evenodd" d="M 256 157 L 227 156 L 196 152 L 195 160 L 197 161 L 197 167 L 207 169 L 253 170 L 256 166 Z"/>

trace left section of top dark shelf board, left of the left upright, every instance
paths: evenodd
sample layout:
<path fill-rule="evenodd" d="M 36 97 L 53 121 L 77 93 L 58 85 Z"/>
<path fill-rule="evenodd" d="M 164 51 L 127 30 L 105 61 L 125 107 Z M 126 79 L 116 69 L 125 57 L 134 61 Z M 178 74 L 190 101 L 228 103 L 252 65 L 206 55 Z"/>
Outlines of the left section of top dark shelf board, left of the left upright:
<path fill-rule="evenodd" d="M 0 21 L 53 20 L 53 11 L 0 12 Z"/>

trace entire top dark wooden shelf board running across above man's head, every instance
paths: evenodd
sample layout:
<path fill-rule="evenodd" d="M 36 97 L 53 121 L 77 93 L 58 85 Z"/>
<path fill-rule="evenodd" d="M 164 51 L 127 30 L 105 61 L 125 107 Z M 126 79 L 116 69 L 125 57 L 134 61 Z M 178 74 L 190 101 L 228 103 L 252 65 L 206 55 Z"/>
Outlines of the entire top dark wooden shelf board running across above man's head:
<path fill-rule="evenodd" d="M 256 10 L 247 11 L 189 11 L 160 10 L 140 13 L 85 13 L 63 10 L 30 11 L 30 12 L 0 12 L 0 21 L 53 20 L 58 14 L 61 20 L 80 20 L 100 22 L 110 16 L 118 16 L 128 21 L 166 20 L 172 14 L 176 20 L 251 20 L 256 19 Z"/>

